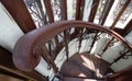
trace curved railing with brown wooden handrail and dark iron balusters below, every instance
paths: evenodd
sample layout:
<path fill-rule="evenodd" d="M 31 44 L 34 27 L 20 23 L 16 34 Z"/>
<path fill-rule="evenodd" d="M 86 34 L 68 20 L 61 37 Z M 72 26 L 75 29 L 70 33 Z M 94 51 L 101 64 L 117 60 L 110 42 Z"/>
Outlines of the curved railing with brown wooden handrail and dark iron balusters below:
<path fill-rule="evenodd" d="M 114 31 L 89 22 L 63 21 L 45 25 L 21 37 L 13 51 L 13 61 L 19 69 L 29 71 L 34 69 L 43 57 L 48 65 L 45 67 L 48 67 L 48 69 L 52 68 L 54 73 L 58 74 L 61 67 L 56 66 L 56 57 L 62 50 L 64 50 L 64 55 L 66 56 L 66 59 L 63 59 L 63 62 L 72 57 L 69 56 L 69 43 L 73 39 L 76 39 L 78 43 L 76 53 L 80 53 L 82 40 L 90 39 L 89 46 L 86 46 L 88 49 L 82 51 L 92 54 L 94 47 L 98 47 L 96 43 L 98 43 L 99 39 L 105 38 L 105 36 L 108 38 L 107 42 L 99 53 L 95 55 L 98 55 L 101 58 L 110 47 L 120 44 L 123 49 L 121 48 L 118 50 L 118 57 L 108 62 L 113 65 L 120 59 L 127 59 L 132 56 L 132 45 Z M 57 39 L 57 42 L 55 39 Z"/>

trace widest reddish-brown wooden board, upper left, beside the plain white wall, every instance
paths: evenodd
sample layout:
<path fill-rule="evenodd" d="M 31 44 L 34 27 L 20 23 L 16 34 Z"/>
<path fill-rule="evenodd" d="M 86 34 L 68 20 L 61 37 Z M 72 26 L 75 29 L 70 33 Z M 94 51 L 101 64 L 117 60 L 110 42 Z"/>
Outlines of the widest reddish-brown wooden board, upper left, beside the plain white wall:
<path fill-rule="evenodd" d="M 0 2 L 24 33 L 36 28 L 23 0 L 0 0 Z"/>

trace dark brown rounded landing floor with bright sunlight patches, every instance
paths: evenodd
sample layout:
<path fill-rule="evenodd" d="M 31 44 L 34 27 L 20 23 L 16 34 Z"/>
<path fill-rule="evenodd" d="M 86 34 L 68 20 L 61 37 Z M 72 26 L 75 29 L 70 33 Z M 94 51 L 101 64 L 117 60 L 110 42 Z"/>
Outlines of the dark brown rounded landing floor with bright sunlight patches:
<path fill-rule="evenodd" d="M 99 57 L 81 53 L 74 55 L 68 61 L 65 61 L 61 72 L 68 78 L 98 80 L 113 72 L 109 67 L 110 65 Z"/>

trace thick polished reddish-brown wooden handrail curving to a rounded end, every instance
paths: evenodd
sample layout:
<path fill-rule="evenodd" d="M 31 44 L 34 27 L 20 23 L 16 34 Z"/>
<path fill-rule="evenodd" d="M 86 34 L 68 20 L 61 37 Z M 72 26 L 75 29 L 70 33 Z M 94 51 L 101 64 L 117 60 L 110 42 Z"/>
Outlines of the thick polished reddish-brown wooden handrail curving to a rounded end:
<path fill-rule="evenodd" d="M 28 71 L 34 69 L 41 60 L 43 45 L 50 39 L 52 39 L 59 32 L 70 28 L 73 26 L 85 26 L 89 30 L 106 32 L 119 39 L 132 51 L 132 45 L 128 44 L 128 42 L 122 36 L 120 36 L 112 30 L 84 21 L 62 21 L 45 25 L 22 36 L 18 40 L 13 50 L 14 65 L 21 70 Z"/>

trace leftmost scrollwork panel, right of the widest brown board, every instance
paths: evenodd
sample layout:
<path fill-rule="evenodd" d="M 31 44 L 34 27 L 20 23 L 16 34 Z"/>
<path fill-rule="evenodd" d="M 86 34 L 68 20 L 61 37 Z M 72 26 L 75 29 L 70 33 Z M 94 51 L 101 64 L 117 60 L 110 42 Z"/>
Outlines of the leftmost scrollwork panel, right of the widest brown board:
<path fill-rule="evenodd" d="M 36 27 L 43 26 L 46 21 L 46 14 L 44 14 L 41 0 L 24 0 L 28 10 L 36 25 Z"/>

